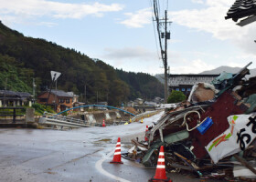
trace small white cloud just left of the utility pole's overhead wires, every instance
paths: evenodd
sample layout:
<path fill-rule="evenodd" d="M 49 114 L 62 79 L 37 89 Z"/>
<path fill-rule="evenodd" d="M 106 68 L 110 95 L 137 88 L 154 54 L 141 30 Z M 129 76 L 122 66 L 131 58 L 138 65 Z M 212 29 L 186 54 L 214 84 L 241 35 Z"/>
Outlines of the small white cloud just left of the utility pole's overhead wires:
<path fill-rule="evenodd" d="M 137 11 L 136 13 L 126 13 L 128 19 L 120 22 L 120 24 L 126 25 L 132 28 L 141 28 L 144 25 L 152 23 L 152 12 L 150 8 L 145 8 Z"/>

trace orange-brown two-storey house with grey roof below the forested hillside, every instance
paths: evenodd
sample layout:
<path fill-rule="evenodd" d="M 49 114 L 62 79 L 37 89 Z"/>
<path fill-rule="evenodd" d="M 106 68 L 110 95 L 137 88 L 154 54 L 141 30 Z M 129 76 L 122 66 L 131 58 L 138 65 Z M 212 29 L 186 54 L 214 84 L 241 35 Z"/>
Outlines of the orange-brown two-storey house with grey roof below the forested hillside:
<path fill-rule="evenodd" d="M 57 112 L 67 110 L 72 106 L 72 98 L 73 96 L 69 95 L 67 92 L 63 90 L 51 90 L 44 91 L 37 96 L 37 103 L 41 105 L 52 106 Z"/>

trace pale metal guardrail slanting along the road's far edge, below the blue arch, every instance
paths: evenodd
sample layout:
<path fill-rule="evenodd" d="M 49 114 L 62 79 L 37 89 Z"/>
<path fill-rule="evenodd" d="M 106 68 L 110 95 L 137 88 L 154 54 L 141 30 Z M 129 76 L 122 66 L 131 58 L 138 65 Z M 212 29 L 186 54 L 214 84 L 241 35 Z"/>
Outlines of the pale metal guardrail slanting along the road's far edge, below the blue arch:
<path fill-rule="evenodd" d="M 56 115 L 48 112 L 45 112 L 43 117 L 39 119 L 39 124 L 61 126 L 61 127 L 68 126 L 71 128 L 95 126 L 94 124 L 91 125 L 91 123 L 81 119 L 76 119 L 69 116 L 60 116 L 60 115 Z"/>

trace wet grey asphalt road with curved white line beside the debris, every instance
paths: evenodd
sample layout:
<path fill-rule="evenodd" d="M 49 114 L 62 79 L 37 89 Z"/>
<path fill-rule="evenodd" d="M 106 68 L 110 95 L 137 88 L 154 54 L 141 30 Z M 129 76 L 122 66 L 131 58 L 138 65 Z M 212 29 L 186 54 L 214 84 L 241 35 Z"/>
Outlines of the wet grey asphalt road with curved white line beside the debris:
<path fill-rule="evenodd" d="M 155 169 L 123 158 L 123 165 L 109 162 L 119 136 L 125 151 L 132 146 L 131 139 L 143 139 L 145 126 L 160 116 L 144 118 L 143 124 L 69 131 L 0 129 L 0 181 L 148 181 L 155 175 Z M 173 181 L 199 181 L 176 174 L 167 176 Z"/>

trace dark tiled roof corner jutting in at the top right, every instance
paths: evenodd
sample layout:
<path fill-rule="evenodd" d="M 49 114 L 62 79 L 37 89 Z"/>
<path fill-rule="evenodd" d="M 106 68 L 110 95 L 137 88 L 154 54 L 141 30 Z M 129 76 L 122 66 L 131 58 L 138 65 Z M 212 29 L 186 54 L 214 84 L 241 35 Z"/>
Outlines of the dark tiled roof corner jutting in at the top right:
<path fill-rule="evenodd" d="M 225 19 L 232 18 L 237 22 L 238 19 L 251 15 L 256 15 L 256 0 L 236 0 Z"/>

